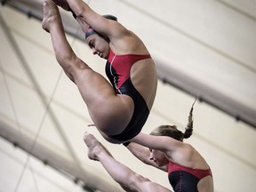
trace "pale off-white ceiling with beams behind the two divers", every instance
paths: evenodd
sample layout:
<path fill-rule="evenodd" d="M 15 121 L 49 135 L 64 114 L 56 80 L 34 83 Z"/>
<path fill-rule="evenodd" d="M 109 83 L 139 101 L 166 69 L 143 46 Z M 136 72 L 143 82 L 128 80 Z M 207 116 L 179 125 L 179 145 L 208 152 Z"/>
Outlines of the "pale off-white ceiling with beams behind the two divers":
<path fill-rule="evenodd" d="M 15 3 L 9 0 L 0 7 L 0 191 L 84 191 L 84 182 L 101 191 L 122 191 L 100 163 L 86 156 L 84 131 L 92 132 L 132 170 L 171 188 L 166 173 L 141 164 L 122 145 L 108 143 L 87 127 L 92 120 L 84 101 L 62 72 L 50 36 L 41 28 L 43 1 L 19 1 L 32 4 L 30 13 L 39 20 L 28 19 L 26 6 L 19 4 L 23 12 L 18 12 Z M 183 130 L 197 95 L 204 102 L 196 103 L 194 134 L 186 141 L 211 165 L 215 191 L 256 188 L 256 2 L 89 4 L 100 14 L 116 15 L 138 34 L 156 61 L 159 79 L 168 83 L 159 80 L 142 132 L 159 124 L 177 124 Z M 76 54 L 104 74 L 105 61 L 81 41 L 84 35 L 72 26 L 72 16 L 61 14 Z M 14 148 L 13 142 L 25 151 Z M 77 184 L 76 177 L 81 178 Z"/>

